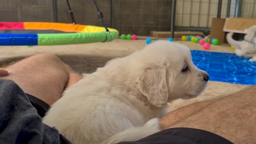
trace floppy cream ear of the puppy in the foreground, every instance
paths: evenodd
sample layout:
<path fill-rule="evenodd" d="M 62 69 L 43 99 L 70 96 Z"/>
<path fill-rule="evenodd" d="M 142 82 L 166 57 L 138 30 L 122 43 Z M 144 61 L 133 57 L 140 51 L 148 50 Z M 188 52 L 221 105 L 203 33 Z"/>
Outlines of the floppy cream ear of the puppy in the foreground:
<path fill-rule="evenodd" d="M 141 70 L 136 85 L 151 104 L 158 107 L 165 105 L 168 99 L 166 65 L 153 65 Z"/>

